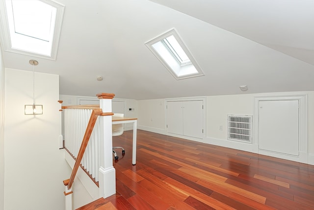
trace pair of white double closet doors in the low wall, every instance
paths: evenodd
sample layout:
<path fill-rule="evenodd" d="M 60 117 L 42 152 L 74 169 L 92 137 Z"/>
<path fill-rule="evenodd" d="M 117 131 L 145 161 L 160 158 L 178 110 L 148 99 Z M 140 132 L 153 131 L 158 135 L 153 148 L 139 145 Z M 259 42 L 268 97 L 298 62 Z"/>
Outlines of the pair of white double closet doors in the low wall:
<path fill-rule="evenodd" d="M 203 101 L 168 101 L 167 132 L 203 138 Z"/>

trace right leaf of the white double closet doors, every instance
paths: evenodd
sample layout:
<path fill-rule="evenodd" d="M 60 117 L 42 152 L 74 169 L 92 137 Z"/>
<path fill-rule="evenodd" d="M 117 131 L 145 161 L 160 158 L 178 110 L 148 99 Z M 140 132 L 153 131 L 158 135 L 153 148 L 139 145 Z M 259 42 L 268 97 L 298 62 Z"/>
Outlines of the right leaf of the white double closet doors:
<path fill-rule="evenodd" d="M 183 135 L 203 138 L 203 101 L 183 101 Z"/>

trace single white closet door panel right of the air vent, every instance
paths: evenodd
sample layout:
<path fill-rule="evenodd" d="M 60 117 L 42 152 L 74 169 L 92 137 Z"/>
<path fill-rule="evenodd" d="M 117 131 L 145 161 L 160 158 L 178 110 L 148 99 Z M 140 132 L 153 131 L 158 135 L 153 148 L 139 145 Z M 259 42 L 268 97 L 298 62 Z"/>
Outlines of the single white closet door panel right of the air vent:
<path fill-rule="evenodd" d="M 299 154 L 299 102 L 259 102 L 259 149 Z"/>

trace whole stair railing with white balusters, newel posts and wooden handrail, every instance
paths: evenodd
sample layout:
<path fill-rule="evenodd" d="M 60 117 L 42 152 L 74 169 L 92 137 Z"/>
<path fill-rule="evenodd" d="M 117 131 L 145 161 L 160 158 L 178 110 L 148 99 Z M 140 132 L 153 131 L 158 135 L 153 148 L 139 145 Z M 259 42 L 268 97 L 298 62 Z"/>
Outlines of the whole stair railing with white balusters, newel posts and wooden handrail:
<path fill-rule="evenodd" d="M 65 142 L 67 138 L 76 139 L 81 136 L 81 128 L 84 127 L 84 122 L 79 122 L 75 117 L 76 114 L 83 113 L 82 121 L 86 120 L 86 114 L 91 112 L 87 125 L 85 126 L 85 133 L 82 137 L 81 144 L 78 148 L 78 141 L 70 141 L 65 143 L 67 150 L 76 158 L 75 165 L 70 179 L 64 180 L 65 185 L 64 195 L 65 209 L 72 210 L 72 184 L 78 172 L 79 165 L 83 165 L 86 171 L 92 171 L 96 179 L 99 180 L 99 195 L 100 197 L 109 197 L 115 194 L 115 169 L 112 166 L 112 115 L 111 102 L 114 94 L 100 93 L 97 94 L 100 99 L 100 106 L 67 106 L 62 107 L 65 111 L 70 110 L 70 117 L 68 118 L 65 112 Z M 80 110 L 80 111 L 79 111 Z M 71 117 L 71 115 L 73 115 Z M 98 118 L 100 116 L 100 118 Z M 67 119 L 67 120 L 66 120 Z M 86 123 L 85 123 L 86 124 Z M 95 126 L 96 125 L 96 126 Z M 94 129 L 94 128 L 97 129 Z M 96 131 L 96 132 L 95 132 Z M 66 133 L 68 132 L 68 137 Z M 94 138 L 91 139 L 91 136 Z M 81 138 L 80 138 L 81 139 Z M 91 139 L 91 140 L 90 140 Z M 89 147 L 89 149 L 88 149 Z M 87 150 L 89 155 L 82 164 L 84 153 Z M 93 155 L 91 155 L 93 154 Z M 96 163 L 96 164 L 95 164 Z M 96 169 L 96 170 L 95 170 Z"/>

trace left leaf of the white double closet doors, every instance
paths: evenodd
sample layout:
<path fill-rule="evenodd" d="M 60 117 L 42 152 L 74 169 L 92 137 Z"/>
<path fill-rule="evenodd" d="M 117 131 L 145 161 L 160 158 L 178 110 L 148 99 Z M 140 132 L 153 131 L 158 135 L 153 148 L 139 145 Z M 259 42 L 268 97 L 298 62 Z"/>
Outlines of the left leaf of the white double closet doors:
<path fill-rule="evenodd" d="M 167 102 L 167 131 L 183 135 L 183 102 Z"/>

